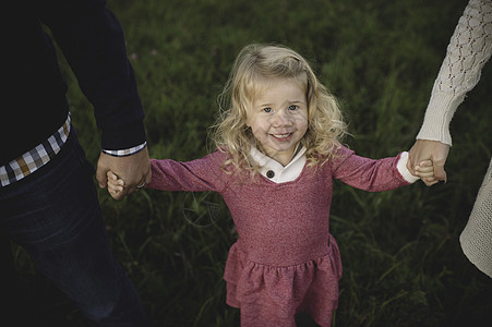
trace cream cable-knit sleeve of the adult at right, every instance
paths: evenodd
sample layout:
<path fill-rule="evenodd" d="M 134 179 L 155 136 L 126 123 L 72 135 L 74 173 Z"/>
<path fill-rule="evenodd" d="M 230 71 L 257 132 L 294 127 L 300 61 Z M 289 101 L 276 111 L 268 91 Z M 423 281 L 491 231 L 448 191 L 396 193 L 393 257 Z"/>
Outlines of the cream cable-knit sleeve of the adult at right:
<path fill-rule="evenodd" d="M 492 1 L 470 0 L 447 46 L 418 140 L 452 145 L 449 123 L 492 52 Z"/>

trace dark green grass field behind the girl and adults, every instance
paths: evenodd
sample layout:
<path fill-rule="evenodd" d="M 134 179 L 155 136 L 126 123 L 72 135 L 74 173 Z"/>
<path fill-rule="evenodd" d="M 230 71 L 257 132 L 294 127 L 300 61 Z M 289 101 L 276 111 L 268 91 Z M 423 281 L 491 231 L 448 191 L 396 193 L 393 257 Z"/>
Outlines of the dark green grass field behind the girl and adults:
<path fill-rule="evenodd" d="M 151 157 L 191 160 L 211 149 L 207 128 L 238 51 L 287 45 L 341 100 L 359 155 L 413 144 L 464 0 L 109 0 L 125 32 L 146 111 Z M 72 117 L 95 165 L 92 107 L 63 64 Z M 331 232 L 344 264 L 334 326 L 485 326 L 492 280 L 459 246 L 492 156 L 492 63 L 452 124 L 448 182 L 365 193 L 336 182 Z M 221 279 L 236 240 L 216 194 L 141 191 L 100 203 L 115 253 L 156 326 L 238 326 Z M 26 311 L 50 326 L 86 326 L 14 247 Z M 27 314 L 26 313 L 26 314 Z"/>

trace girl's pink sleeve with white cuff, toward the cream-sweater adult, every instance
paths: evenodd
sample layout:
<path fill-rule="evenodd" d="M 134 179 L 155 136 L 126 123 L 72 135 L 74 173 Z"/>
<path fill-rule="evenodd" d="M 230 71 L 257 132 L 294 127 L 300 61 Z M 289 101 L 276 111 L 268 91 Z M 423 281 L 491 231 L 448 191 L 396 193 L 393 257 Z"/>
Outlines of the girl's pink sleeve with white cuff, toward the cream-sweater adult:
<path fill-rule="evenodd" d="M 395 190 L 419 180 L 408 171 L 407 159 L 408 153 L 401 153 L 397 157 L 374 160 L 340 147 L 333 161 L 333 178 L 369 192 Z"/>

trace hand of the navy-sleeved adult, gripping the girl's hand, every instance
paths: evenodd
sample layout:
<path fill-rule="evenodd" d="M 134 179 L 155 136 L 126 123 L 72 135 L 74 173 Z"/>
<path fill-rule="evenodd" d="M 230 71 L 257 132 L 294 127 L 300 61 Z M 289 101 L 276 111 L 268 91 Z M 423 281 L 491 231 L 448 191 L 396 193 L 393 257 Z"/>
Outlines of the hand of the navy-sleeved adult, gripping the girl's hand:
<path fill-rule="evenodd" d="M 101 153 L 97 161 L 96 171 L 96 179 L 101 189 L 105 189 L 108 184 L 108 171 L 112 171 L 124 181 L 125 186 L 123 192 L 117 194 L 110 193 L 116 199 L 121 199 L 134 192 L 137 186 L 149 183 L 152 173 L 147 147 L 127 157 L 113 157 Z"/>

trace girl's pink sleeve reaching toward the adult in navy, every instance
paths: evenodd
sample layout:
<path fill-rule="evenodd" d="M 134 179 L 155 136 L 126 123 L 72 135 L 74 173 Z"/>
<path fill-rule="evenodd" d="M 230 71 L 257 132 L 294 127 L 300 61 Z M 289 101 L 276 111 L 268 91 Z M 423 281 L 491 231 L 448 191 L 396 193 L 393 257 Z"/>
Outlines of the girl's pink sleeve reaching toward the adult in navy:
<path fill-rule="evenodd" d="M 219 152 L 187 162 L 151 159 L 152 181 L 146 187 L 161 191 L 221 193 L 231 178 L 221 169 L 223 162 L 224 155 Z"/>

